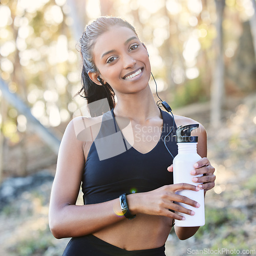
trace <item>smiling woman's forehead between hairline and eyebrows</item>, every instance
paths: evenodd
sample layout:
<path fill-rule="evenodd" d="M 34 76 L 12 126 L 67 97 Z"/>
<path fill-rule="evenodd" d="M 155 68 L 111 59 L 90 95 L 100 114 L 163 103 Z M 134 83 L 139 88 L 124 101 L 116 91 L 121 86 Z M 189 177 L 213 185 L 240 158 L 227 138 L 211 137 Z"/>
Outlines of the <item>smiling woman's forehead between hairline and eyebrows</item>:
<path fill-rule="evenodd" d="M 130 28 L 118 25 L 112 26 L 96 39 L 93 49 L 94 56 L 101 56 L 104 52 L 118 50 L 127 39 L 133 36 L 137 37 L 136 33 Z"/>

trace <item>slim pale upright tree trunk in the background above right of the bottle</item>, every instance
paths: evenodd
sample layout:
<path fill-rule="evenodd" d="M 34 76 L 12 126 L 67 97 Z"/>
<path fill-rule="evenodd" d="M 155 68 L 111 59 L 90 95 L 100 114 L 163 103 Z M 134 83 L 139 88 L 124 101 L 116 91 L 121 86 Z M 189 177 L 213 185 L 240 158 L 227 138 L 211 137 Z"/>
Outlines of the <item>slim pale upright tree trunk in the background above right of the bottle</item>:
<path fill-rule="evenodd" d="M 212 75 L 211 84 L 211 114 L 210 123 L 212 127 L 219 127 L 221 124 L 221 110 L 224 95 L 224 56 L 223 56 L 223 11 L 225 0 L 215 0 L 216 3 L 216 30 L 215 40 L 216 60 Z"/>

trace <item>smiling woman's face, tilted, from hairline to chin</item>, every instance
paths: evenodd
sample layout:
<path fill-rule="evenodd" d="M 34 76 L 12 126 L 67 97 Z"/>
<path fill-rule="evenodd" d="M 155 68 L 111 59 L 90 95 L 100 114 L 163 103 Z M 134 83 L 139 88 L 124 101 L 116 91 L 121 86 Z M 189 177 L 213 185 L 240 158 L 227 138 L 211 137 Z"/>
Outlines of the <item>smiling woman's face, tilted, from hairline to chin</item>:
<path fill-rule="evenodd" d="M 117 96 L 136 93 L 148 85 L 150 61 L 132 29 L 111 27 L 96 39 L 93 56 L 100 77 L 110 84 Z"/>

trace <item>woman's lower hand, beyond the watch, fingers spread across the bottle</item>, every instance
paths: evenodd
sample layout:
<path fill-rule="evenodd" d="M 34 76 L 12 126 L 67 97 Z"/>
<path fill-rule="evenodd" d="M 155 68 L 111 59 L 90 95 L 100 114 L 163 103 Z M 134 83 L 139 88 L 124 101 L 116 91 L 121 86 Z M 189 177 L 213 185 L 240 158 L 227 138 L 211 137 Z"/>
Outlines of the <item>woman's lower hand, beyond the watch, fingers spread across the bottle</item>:
<path fill-rule="evenodd" d="M 127 195 L 129 210 L 132 214 L 142 213 L 147 215 L 159 215 L 176 220 L 183 220 L 183 217 L 170 210 L 182 212 L 187 215 L 195 215 L 194 211 L 174 203 L 175 201 L 191 205 L 195 208 L 200 207 L 198 202 L 187 197 L 177 195 L 176 192 L 180 190 L 199 191 L 200 188 L 187 183 L 179 183 L 165 185 L 145 193 Z"/>

